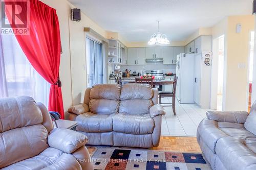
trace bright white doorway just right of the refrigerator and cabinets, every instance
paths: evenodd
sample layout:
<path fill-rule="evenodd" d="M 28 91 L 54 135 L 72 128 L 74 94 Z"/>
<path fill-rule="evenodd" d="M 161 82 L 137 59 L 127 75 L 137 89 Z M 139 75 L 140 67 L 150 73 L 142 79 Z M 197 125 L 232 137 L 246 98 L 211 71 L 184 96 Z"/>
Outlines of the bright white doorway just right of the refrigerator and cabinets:
<path fill-rule="evenodd" d="M 213 40 L 211 70 L 211 109 L 223 111 L 225 35 Z"/>

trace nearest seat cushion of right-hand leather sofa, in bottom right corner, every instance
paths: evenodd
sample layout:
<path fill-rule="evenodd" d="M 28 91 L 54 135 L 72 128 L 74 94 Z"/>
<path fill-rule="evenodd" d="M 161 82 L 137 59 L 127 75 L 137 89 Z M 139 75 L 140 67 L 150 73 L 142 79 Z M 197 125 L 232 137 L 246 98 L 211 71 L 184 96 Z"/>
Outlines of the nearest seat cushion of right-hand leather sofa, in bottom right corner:
<path fill-rule="evenodd" d="M 219 139 L 216 154 L 226 169 L 256 169 L 255 150 L 248 148 L 243 139 L 234 137 Z"/>

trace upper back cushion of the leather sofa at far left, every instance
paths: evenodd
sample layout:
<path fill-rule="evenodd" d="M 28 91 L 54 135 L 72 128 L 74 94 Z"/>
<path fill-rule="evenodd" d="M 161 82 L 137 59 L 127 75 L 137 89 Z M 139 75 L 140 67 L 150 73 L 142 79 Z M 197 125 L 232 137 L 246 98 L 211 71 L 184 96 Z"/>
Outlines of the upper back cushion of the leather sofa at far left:
<path fill-rule="evenodd" d="M 0 113 L 0 133 L 42 123 L 41 110 L 29 96 L 0 99 Z"/>

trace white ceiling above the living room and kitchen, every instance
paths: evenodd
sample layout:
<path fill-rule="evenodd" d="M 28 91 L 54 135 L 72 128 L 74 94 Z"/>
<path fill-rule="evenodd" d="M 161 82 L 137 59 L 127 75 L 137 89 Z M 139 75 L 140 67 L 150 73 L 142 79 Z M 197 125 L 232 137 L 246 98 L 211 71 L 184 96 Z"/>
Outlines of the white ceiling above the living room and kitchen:
<path fill-rule="evenodd" d="M 106 31 L 126 41 L 148 41 L 157 32 L 185 40 L 198 28 L 212 27 L 225 16 L 252 13 L 253 0 L 69 0 Z"/>

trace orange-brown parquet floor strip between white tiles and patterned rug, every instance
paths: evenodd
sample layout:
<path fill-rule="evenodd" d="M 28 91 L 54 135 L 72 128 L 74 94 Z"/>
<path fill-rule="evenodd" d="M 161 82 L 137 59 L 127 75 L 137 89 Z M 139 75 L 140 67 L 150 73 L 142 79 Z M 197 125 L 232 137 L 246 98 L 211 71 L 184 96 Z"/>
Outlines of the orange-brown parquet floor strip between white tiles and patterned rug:
<path fill-rule="evenodd" d="M 153 150 L 201 153 L 196 137 L 161 136 L 159 147 Z"/>

